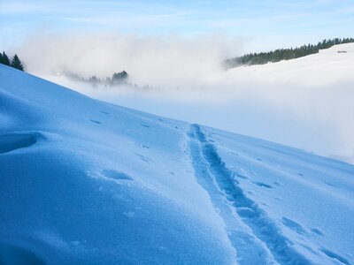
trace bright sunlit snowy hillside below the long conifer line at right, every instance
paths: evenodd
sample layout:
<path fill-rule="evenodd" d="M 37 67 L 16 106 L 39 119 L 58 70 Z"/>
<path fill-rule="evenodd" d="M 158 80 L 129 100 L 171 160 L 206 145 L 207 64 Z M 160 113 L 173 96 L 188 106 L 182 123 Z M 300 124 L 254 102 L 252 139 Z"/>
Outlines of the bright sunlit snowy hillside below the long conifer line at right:
<path fill-rule="evenodd" d="M 319 53 L 278 63 L 242 66 L 229 70 L 234 78 L 251 75 L 266 77 L 268 82 L 292 81 L 304 85 L 327 86 L 328 84 L 353 81 L 354 43 L 335 45 L 321 49 Z"/>

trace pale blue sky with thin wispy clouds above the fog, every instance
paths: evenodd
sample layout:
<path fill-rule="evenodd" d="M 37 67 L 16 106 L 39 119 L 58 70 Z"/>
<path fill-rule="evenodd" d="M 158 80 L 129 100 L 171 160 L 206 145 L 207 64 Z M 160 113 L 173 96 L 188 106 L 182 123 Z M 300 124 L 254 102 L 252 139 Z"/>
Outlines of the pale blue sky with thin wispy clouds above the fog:
<path fill-rule="evenodd" d="M 354 1 L 0 0 L 0 46 L 42 30 L 222 33 L 244 37 L 250 49 L 275 49 L 353 37 Z"/>

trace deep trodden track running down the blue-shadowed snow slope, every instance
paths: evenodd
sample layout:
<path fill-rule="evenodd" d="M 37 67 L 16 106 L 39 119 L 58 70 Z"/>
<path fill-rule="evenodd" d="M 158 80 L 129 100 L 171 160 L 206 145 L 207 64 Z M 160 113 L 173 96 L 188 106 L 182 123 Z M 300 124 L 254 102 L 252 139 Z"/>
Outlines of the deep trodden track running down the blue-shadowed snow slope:
<path fill-rule="evenodd" d="M 311 264 L 291 247 L 291 241 L 266 212 L 243 193 L 235 173 L 227 169 L 199 125 L 191 125 L 189 151 L 197 181 L 224 220 L 240 264 Z M 247 227 L 247 233 L 242 226 Z"/>

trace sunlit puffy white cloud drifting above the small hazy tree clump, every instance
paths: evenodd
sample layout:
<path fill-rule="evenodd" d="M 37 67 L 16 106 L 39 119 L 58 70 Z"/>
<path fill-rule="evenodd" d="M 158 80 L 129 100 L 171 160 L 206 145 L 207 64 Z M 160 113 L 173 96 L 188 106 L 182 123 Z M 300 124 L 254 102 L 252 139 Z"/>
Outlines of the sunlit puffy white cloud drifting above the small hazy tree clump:
<path fill-rule="evenodd" d="M 241 39 L 220 34 L 44 34 L 28 39 L 20 52 L 27 70 L 40 75 L 70 71 L 105 78 L 125 70 L 139 86 L 190 88 L 222 72 L 222 60 L 241 47 Z"/>

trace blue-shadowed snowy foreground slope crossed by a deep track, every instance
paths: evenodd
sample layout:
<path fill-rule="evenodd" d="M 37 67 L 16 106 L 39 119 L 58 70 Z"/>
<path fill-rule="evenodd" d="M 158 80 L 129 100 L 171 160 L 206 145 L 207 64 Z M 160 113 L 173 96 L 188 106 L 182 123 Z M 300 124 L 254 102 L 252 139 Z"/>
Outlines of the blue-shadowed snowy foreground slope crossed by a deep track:
<path fill-rule="evenodd" d="M 0 65 L 0 263 L 353 264 L 354 166 Z"/>

